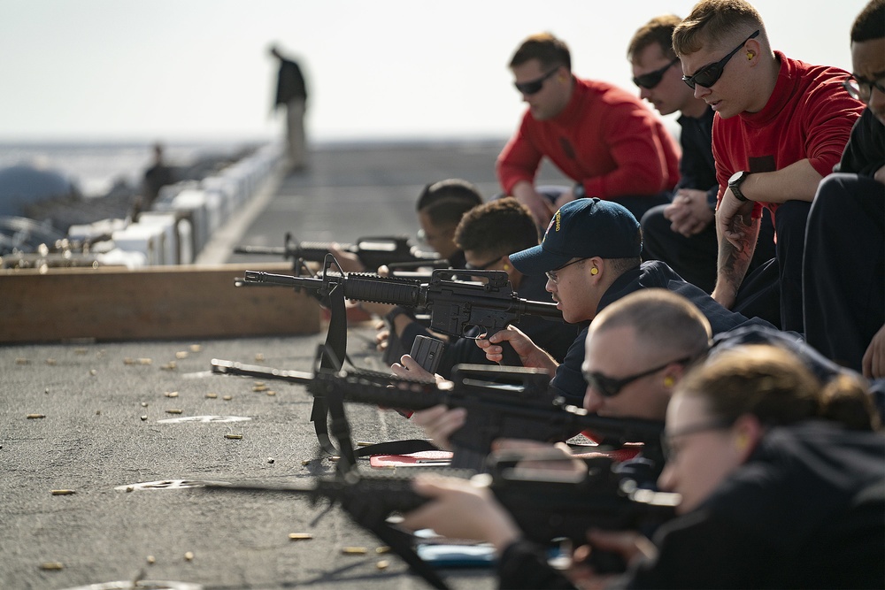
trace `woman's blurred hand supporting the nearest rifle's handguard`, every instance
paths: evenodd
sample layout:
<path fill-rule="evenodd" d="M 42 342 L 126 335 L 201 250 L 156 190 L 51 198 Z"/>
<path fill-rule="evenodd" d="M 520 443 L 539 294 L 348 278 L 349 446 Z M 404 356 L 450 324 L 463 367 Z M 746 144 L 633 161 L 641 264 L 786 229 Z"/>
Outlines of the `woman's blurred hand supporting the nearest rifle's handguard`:
<path fill-rule="evenodd" d="M 434 502 L 406 514 L 401 523 L 406 529 L 429 528 L 452 539 L 488 541 L 499 553 L 519 539 L 519 527 L 488 487 L 475 486 L 467 479 L 422 474 L 412 488 Z"/>

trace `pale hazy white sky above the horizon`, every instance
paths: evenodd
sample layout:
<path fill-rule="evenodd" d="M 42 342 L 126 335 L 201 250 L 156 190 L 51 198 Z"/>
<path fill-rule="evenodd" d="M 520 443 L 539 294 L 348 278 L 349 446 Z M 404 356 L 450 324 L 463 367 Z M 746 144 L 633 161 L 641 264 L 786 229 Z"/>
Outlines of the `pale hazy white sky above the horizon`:
<path fill-rule="evenodd" d="M 693 0 L 4 0 L 0 142 L 270 139 L 275 42 L 306 73 L 314 142 L 499 138 L 506 67 L 550 31 L 573 72 L 631 91 L 627 42 Z M 757 0 L 774 49 L 850 70 L 866 0 Z"/>

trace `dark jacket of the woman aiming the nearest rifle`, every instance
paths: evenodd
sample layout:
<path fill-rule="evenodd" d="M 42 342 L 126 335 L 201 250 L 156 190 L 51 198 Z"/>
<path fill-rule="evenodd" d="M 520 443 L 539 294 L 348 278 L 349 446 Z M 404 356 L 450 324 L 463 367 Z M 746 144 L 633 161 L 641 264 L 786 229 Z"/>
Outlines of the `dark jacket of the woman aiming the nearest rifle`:
<path fill-rule="evenodd" d="M 610 587 L 881 588 L 885 437 L 810 421 L 774 428 L 696 510 L 658 529 L 657 559 Z M 502 588 L 571 588 L 518 541 Z"/>

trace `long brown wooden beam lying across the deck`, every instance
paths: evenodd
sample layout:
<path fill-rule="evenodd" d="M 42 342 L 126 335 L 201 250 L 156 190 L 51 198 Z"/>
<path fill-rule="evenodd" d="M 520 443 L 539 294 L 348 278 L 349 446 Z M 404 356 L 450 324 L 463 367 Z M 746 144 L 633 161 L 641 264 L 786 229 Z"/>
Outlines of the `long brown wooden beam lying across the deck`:
<path fill-rule="evenodd" d="M 319 303 L 284 287 L 235 287 L 286 263 L 0 270 L 0 343 L 318 333 Z"/>

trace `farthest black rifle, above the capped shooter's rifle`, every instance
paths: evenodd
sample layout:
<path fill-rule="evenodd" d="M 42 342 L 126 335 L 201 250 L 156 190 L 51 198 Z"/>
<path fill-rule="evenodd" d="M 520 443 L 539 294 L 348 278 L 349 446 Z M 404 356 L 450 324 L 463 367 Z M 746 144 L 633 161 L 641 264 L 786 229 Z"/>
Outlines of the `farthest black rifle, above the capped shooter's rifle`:
<path fill-rule="evenodd" d="M 323 262 L 329 253 L 331 242 L 296 241 L 286 234 L 284 246 L 239 246 L 235 254 L 258 254 L 281 256 L 284 260 Z M 446 267 L 449 262 L 436 252 L 423 252 L 413 246 L 404 235 L 359 238 L 354 244 L 339 244 L 339 249 L 356 254 L 366 270 L 374 272 L 379 266 L 394 268 L 418 268 L 419 266 Z"/>

